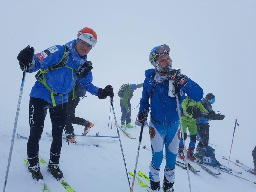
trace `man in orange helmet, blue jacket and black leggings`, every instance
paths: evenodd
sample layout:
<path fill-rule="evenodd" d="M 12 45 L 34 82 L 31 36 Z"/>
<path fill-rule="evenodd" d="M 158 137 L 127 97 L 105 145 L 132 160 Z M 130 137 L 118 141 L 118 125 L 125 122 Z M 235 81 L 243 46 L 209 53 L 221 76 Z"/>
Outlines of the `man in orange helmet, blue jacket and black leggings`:
<path fill-rule="evenodd" d="M 53 141 L 50 148 L 48 170 L 56 178 L 63 177 L 59 169 L 62 146 L 62 132 L 67 121 L 68 94 L 78 79 L 85 91 L 105 99 L 114 96 L 113 87 L 105 89 L 92 84 L 92 63 L 87 61 L 87 54 L 97 41 L 93 29 L 85 27 L 78 31 L 77 39 L 64 46 L 52 46 L 34 55 L 33 47 L 26 47 L 18 54 L 22 70 L 36 72 L 37 81 L 30 92 L 29 125 L 30 135 L 27 143 L 28 169 L 37 181 L 43 179 L 39 165 L 39 140 L 44 128 L 44 120 L 49 109 L 52 122 Z M 25 68 L 26 67 L 26 68 Z M 74 99 L 74 98 L 73 98 Z"/>

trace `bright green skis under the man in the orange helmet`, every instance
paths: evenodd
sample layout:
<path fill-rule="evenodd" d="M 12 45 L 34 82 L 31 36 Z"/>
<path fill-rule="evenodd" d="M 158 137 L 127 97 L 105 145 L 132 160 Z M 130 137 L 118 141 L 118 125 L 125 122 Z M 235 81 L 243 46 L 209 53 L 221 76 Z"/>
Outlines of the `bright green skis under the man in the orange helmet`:
<path fill-rule="evenodd" d="M 39 155 L 39 160 L 42 165 L 44 165 L 46 167 L 48 166 L 46 161 L 40 155 Z M 26 168 L 28 168 L 28 161 L 26 159 L 23 159 L 23 161 L 25 162 Z M 41 181 L 40 184 L 42 185 L 42 191 L 43 192 L 51 192 L 49 187 L 47 186 L 47 184 L 44 181 L 42 181 L 41 179 L 40 179 L 40 181 Z M 75 192 L 75 190 L 64 180 L 64 178 L 62 178 L 60 180 L 57 179 L 57 181 L 61 184 L 61 186 L 64 189 L 66 189 L 67 192 Z"/>

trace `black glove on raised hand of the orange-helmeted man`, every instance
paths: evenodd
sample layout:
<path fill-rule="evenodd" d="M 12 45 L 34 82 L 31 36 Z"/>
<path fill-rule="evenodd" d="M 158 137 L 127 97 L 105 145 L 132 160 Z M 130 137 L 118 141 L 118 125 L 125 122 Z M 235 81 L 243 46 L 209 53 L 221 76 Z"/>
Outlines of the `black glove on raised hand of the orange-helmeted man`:
<path fill-rule="evenodd" d="M 32 64 L 33 56 L 34 56 L 35 49 L 33 47 L 30 47 L 29 45 L 20 51 L 18 54 L 18 61 L 20 64 L 20 69 L 23 71 L 25 66 L 28 66 L 28 69 L 30 68 L 30 71 L 34 68 L 34 66 L 29 67 Z M 29 72 L 27 69 L 27 72 Z"/>

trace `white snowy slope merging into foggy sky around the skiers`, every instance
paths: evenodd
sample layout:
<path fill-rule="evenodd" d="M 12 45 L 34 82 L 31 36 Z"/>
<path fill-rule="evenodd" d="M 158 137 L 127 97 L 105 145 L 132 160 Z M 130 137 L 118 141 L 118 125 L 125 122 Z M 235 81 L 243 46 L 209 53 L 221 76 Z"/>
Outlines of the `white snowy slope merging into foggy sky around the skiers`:
<path fill-rule="evenodd" d="M 124 83 L 139 84 L 144 80 L 144 71 L 152 68 L 148 54 L 152 47 L 168 44 L 173 69 L 182 72 L 200 84 L 204 96 L 211 92 L 216 96 L 214 110 L 226 115 L 223 121 L 210 122 L 209 142 L 216 151 L 216 158 L 223 165 L 229 156 L 235 119 L 236 127 L 231 160 L 239 159 L 253 168 L 251 151 L 255 146 L 255 63 L 256 63 L 256 2 L 251 0 L 227 1 L 4 1 L 0 6 L 0 184 L 3 187 L 8 163 L 13 126 L 22 79 L 17 55 L 28 44 L 41 52 L 56 44 L 65 44 L 76 38 L 77 31 L 85 26 L 93 28 L 98 42 L 88 54 L 93 63 L 93 84 L 114 87 L 114 110 L 120 123 L 120 105 L 117 90 Z M 17 133 L 29 136 L 29 93 L 35 82 L 35 73 L 27 74 Z M 137 106 L 142 88 L 132 98 L 132 107 Z M 132 111 L 133 122 L 138 108 Z M 90 134 L 117 136 L 112 114 L 112 129 L 108 127 L 110 114 L 109 98 L 99 100 L 89 93 L 81 100 L 76 115 L 94 123 Z M 75 133 L 81 134 L 82 126 Z M 51 132 L 47 114 L 42 138 Z M 137 139 L 128 138 L 121 130 L 126 166 L 133 172 L 140 127 L 129 133 Z M 60 168 L 66 181 L 75 191 L 129 191 L 128 181 L 116 138 L 77 138 L 77 142 L 99 144 L 75 146 L 63 143 Z M 189 140 L 186 145 L 188 146 Z M 23 159 L 26 158 L 27 141 L 15 138 L 6 192 L 41 191 L 32 180 Z M 40 155 L 49 160 L 51 142 L 40 141 Z M 137 171 L 148 174 L 151 153 L 148 127 L 145 127 L 139 153 Z M 163 181 L 163 160 L 160 170 Z M 213 176 L 191 163 L 200 173 L 189 172 L 192 191 L 256 191 L 256 185 L 222 172 Z M 239 175 L 256 182 L 256 176 L 238 166 L 229 164 Z M 213 169 L 213 168 L 212 168 Z M 213 169 L 214 170 L 214 169 Z M 66 191 L 42 166 L 45 182 L 51 191 Z M 189 191 L 187 172 L 175 168 L 175 191 Z M 147 182 L 147 181 L 145 181 Z M 131 181 L 130 181 L 131 183 Z M 1 189 L 0 189 L 1 190 Z M 145 191 L 137 183 L 133 191 Z"/>

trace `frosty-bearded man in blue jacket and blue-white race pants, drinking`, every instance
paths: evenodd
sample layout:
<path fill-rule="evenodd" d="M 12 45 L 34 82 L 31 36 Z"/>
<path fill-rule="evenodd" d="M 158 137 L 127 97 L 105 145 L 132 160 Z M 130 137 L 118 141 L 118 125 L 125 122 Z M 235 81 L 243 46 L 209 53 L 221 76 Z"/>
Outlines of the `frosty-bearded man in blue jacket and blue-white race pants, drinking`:
<path fill-rule="evenodd" d="M 149 134 L 152 147 L 152 161 L 149 166 L 151 191 L 160 190 L 159 171 L 163 160 L 165 145 L 166 165 L 164 169 L 163 191 L 174 191 L 175 162 L 179 147 L 179 115 L 175 94 L 169 93 L 169 81 L 177 84 L 178 96 L 182 110 L 182 101 L 187 94 L 194 101 L 203 97 L 202 88 L 187 76 L 182 75 L 172 67 L 169 56 L 170 48 L 167 45 L 154 47 L 149 55 L 149 61 L 155 69 L 145 71 L 142 98 L 138 120 L 147 120 L 149 108 L 150 122 Z M 174 85 L 173 85 L 174 86 Z M 151 102 L 149 102 L 149 99 Z"/>

